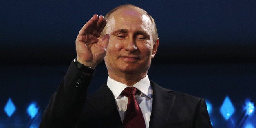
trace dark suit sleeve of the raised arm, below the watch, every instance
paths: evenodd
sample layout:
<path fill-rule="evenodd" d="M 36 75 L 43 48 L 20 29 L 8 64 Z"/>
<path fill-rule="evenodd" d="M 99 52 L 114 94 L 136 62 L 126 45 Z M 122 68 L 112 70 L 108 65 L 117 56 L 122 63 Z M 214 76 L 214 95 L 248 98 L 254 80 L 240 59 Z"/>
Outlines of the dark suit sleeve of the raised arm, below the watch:
<path fill-rule="evenodd" d="M 92 77 L 72 62 L 44 111 L 40 128 L 74 128 Z"/>

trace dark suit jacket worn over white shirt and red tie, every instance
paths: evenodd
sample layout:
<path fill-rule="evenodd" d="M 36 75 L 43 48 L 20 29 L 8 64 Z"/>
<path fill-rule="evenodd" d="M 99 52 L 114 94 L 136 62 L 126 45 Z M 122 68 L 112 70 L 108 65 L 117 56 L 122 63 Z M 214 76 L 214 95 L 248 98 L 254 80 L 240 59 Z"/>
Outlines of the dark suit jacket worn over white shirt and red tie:
<path fill-rule="evenodd" d="M 122 128 L 113 93 L 106 83 L 87 96 L 92 76 L 72 62 L 44 111 L 40 128 Z M 211 128 L 205 100 L 151 82 L 150 128 Z"/>

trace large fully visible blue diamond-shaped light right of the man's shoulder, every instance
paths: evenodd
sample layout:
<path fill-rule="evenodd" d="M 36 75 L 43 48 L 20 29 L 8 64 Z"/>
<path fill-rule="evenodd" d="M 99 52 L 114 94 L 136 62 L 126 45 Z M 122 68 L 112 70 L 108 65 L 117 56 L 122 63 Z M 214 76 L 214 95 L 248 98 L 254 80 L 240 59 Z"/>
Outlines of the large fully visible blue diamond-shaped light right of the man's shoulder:
<path fill-rule="evenodd" d="M 225 118 L 225 120 L 230 119 L 230 117 L 235 112 L 234 105 L 232 104 L 232 102 L 230 101 L 230 98 L 228 96 L 226 96 L 226 98 L 224 99 L 224 102 L 221 105 L 220 112 L 221 112 L 222 116 Z"/>

